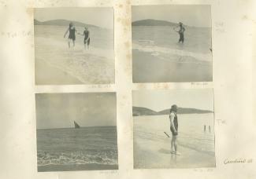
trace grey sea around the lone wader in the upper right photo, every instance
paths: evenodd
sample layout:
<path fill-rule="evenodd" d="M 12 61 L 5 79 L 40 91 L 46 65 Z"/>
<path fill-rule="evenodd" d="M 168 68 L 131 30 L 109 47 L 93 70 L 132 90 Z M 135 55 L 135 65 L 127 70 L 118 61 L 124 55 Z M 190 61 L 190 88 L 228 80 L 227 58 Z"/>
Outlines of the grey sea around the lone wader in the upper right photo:
<path fill-rule="evenodd" d="M 179 35 L 173 27 L 132 27 L 132 49 L 154 56 L 179 55 L 191 60 L 211 61 L 212 38 L 209 27 L 186 27 L 184 44 L 177 43 Z"/>

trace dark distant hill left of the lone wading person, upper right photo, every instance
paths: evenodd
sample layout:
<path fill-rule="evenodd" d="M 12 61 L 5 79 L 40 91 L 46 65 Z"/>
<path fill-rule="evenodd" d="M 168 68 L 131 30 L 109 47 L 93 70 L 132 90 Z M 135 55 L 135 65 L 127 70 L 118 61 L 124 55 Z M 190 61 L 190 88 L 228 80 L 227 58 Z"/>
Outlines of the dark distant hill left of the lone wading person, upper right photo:
<path fill-rule="evenodd" d="M 176 26 L 177 24 L 165 20 L 137 20 L 132 22 L 132 26 Z"/>

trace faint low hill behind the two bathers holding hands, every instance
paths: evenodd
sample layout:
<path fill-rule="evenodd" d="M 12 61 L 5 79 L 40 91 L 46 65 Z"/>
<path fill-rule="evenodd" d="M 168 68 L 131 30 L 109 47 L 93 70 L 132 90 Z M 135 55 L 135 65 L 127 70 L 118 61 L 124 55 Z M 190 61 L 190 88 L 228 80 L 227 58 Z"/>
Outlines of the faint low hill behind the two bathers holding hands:
<path fill-rule="evenodd" d="M 46 20 L 46 21 L 39 21 L 34 20 L 34 25 L 56 25 L 56 26 L 67 26 L 69 27 L 70 20 Z M 72 21 L 73 24 L 75 24 L 76 27 L 97 27 L 95 25 L 91 24 L 84 24 L 78 21 Z"/>

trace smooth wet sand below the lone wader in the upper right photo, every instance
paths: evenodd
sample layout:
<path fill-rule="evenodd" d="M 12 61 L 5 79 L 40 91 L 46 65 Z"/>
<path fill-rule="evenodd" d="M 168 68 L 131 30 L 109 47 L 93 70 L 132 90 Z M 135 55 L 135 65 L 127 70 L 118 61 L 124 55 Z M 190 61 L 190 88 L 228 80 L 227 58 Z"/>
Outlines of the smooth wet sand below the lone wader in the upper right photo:
<path fill-rule="evenodd" d="M 171 58 L 171 57 L 170 57 Z M 173 57 L 172 57 L 173 58 Z M 211 62 L 181 63 L 177 59 L 162 59 L 150 53 L 132 50 L 133 82 L 211 82 Z"/>

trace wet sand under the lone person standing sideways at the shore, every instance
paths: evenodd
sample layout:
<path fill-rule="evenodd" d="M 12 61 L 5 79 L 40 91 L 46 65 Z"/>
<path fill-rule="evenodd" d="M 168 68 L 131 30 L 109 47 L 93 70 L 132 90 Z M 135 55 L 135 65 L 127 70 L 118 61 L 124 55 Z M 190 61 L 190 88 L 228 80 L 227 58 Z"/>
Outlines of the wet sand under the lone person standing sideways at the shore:
<path fill-rule="evenodd" d="M 215 167 L 214 155 L 198 152 L 178 145 L 181 155 L 170 153 L 171 139 L 166 142 L 135 139 L 134 168 L 198 168 Z"/>

